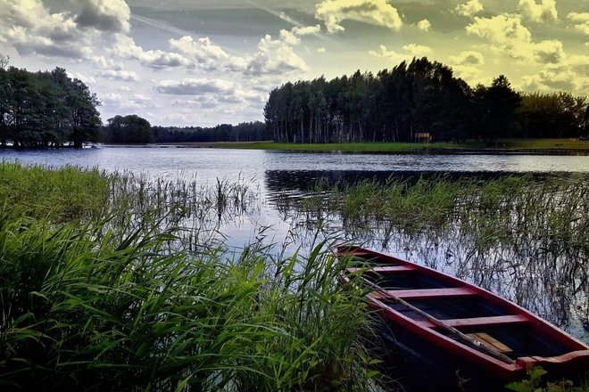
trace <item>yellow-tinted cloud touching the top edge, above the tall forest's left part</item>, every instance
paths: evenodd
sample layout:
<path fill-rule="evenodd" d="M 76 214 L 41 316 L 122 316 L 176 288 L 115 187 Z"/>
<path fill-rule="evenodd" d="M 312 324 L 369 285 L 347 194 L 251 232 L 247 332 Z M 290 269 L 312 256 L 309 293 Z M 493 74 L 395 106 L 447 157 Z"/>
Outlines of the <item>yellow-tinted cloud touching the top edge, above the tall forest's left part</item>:
<path fill-rule="evenodd" d="M 324 0 L 315 6 L 315 17 L 323 20 L 328 33 L 344 31 L 343 20 L 356 20 L 398 31 L 401 16 L 386 0 Z"/>

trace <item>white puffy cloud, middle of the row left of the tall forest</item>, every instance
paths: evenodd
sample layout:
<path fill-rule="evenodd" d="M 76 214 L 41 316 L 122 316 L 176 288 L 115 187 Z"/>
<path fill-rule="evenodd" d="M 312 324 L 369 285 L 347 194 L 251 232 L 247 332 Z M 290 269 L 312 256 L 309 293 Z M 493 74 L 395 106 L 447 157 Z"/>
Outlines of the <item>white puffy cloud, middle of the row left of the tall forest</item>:
<path fill-rule="evenodd" d="M 184 36 L 179 39 L 170 39 L 170 46 L 184 53 L 196 66 L 208 70 L 244 70 L 245 59 L 231 56 L 223 48 L 214 45 L 209 37 L 195 39 Z"/>

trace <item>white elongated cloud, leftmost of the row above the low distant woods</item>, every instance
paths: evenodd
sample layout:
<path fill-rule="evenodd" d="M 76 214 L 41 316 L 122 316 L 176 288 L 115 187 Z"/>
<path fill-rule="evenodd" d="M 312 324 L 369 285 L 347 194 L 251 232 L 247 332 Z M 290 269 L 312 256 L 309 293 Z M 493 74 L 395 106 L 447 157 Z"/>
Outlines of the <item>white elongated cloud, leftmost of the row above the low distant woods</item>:
<path fill-rule="evenodd" d="M 112 51 L 121 57 L 141 61 L 148 67 L 168 68 L 187 66 L 190 61 L 178 53 L 163 52 L 162 50 L 145 51 L 135 44 L 131 37 L 117 35 Z"/>

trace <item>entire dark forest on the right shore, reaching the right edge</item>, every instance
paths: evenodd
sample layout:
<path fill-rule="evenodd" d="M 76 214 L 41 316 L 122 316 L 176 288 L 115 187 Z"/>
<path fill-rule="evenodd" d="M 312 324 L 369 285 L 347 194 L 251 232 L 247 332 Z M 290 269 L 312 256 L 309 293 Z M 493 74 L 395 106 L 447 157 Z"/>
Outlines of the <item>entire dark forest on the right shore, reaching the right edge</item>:
<path fill-rule="evenodd" d="M 288 82 L 270 92 L 267 132 L 284 143 L 436 142 L 577 137 L 589 131 L 586 97 L 515 91 L 504 76 L 470 87 L 426 57 L 377 75 Z"/>

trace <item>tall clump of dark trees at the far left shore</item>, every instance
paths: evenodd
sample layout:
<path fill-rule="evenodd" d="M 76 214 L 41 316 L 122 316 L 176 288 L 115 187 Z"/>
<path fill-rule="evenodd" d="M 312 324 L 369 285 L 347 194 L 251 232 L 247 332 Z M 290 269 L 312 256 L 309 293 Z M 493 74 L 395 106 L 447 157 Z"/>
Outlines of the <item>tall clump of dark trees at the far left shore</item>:
<path fill-rule="evenodd" d="M 66 70 L 29 72 L 8 67 L 0 54 L 0 146 L 81 148 L 94 142 L 101 125 L 100 102 Z"/>

